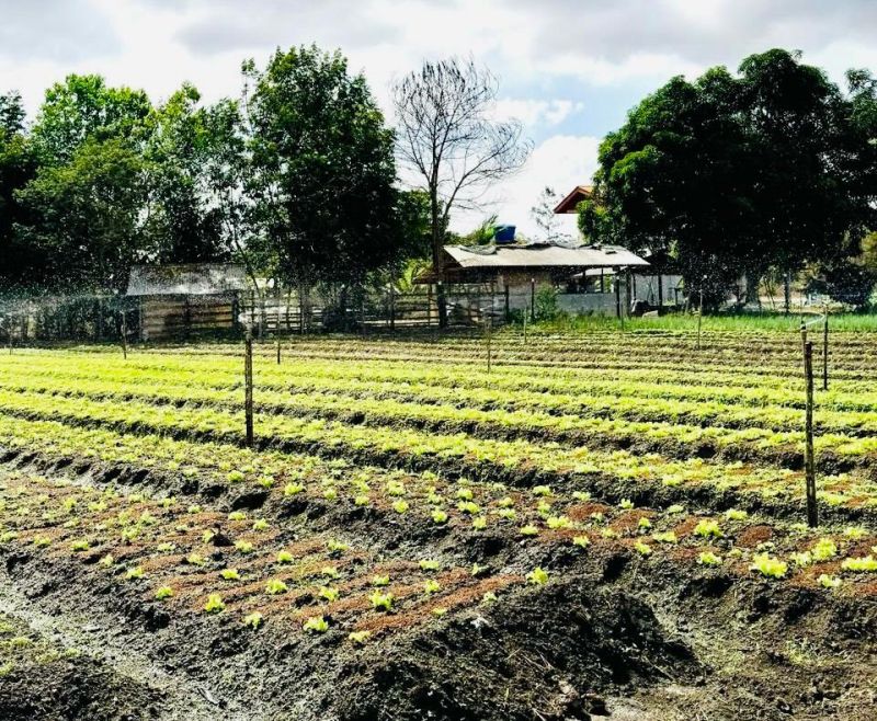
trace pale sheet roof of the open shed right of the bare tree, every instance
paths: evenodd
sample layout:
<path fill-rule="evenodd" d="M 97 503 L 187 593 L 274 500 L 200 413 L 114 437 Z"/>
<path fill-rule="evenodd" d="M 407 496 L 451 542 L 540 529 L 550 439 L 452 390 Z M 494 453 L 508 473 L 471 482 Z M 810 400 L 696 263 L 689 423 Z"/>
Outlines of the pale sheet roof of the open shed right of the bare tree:
<path fill-rule="evenodd" d="M 463 268 L 499 267 L 612 267 L 648 265 L 620 245 L 489 245 L 477 251 L 445 245 L 445 252 Z"/>

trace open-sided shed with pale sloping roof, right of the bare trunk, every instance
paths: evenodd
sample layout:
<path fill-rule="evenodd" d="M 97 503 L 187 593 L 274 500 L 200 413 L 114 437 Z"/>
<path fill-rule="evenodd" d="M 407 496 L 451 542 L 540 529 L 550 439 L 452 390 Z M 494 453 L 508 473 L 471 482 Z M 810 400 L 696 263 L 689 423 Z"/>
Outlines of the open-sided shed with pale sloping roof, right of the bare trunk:
<path fill-rule="evenodd" d="M 428 271 L 419 283 L 445 284 L 452 308 L 475 305 L 493 314 L 535 308 L 539 288 L 556 290 L 559 310 L 620 314 L 630 307 L 625 275 L 648 262 L 618 245 L 574 242 L 514 242 L 445 245 L 442 272 Z M 617 279 L 617 281 L 616 281 Z M 488 302 L 485 302 L 485 298 Z"/>

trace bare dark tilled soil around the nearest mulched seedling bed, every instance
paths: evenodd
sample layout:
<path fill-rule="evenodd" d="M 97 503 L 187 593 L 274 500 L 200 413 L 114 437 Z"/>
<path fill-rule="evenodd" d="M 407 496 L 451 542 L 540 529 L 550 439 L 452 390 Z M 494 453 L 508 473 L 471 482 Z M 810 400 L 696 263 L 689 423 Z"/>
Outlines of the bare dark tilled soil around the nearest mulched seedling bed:
<path fill-rule="evenodd" d="M 47 467 L 37 458 L 13 461 Z M 123 491 L 161 482 L 88 464 L 60 466 L 53 472 L 81 483 L 112 478 Z M 192 500 L 241 505 L 210 495 Z M 261 503 L 253 496 L 243 505 Z M 0 663 L 0 718 L 874 718 L 873 599 L 741 581 L 691 564 L 645 569 L 620 551 L 582 559 L 509 536 L 388 526 L 312 502 L 262 511 L 301 535 L 344 528 L 376 553 L 542 564 L 554 579 L 356 646 L 334 628 L 303 638 L 283 623 L 252 631 L 223 617 L 170 615 L 157 602 L 89 581 L 79 560 L 0 546 L 0 611 L 12 629 L 0 641 L 27 636 L 56 649 L 27 654 L 2 645 L 9 662 Z"/>

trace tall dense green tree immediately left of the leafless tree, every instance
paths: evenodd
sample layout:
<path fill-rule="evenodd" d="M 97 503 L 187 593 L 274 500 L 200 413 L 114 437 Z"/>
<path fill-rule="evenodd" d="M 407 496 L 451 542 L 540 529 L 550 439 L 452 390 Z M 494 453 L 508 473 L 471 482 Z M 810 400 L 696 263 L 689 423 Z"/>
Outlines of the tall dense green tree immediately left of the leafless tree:
<path fill-rule="evenodd" d="M 392 131 L 340 53 L 277 50 L 243 67 L 251 169 L 246 191 L 272 272 L 362 283 L 398 252 Z"/>

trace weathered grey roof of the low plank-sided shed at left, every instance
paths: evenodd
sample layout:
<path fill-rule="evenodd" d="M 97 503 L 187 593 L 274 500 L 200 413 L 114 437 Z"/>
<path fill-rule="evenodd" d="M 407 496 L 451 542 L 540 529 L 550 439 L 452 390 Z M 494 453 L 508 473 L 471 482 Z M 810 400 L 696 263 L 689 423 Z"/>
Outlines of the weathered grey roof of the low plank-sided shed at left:
<path fill-rule="evenodd" d="M 127 295 L 212 296 L 246 287 L 243 266 L 231 263 L 135 265 L 128 276 Z"/>

